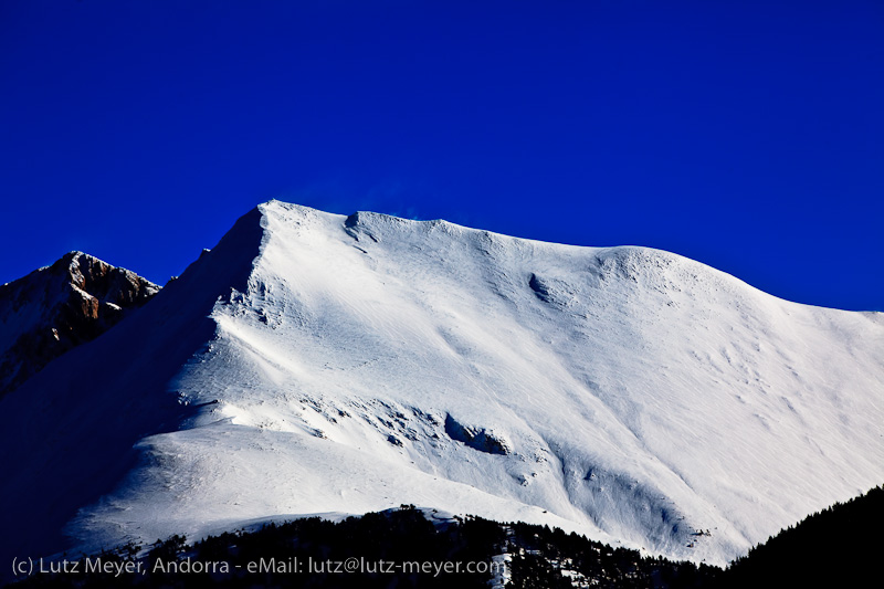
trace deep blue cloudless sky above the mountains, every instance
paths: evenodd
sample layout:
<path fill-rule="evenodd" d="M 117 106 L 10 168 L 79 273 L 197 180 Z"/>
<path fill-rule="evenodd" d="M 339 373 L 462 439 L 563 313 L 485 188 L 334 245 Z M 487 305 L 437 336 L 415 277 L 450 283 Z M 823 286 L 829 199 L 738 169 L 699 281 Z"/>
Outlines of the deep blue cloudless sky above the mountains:
<path fill-rule="evenodd" d="M 0 0 L 0 282 L 271 198 L 884 311 L 884 2 Z"/>

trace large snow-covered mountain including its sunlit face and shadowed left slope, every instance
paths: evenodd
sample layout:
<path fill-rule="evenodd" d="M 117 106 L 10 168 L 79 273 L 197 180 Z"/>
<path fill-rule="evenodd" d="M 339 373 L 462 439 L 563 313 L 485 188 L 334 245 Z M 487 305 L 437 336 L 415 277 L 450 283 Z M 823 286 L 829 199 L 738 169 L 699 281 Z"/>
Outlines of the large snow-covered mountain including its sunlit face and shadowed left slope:
<path fill-rule="evenodd" d="M 2 556 L 411 503 L 725 564 L 884 481 L 882 358 L 671 253 L 271 201 L 0 402 Z"/>

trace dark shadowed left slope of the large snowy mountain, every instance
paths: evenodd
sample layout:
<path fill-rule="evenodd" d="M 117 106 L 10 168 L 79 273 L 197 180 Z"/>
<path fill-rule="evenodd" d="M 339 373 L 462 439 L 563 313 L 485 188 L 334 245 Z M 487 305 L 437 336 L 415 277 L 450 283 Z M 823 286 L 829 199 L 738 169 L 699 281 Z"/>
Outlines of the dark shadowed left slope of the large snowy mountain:
<path fill-rule="evenodd" d="M 244 215 L 140 313 L 0 401 L 3 561 L 67 547 L 62 528 L 133 467 L 133 444 L 177 429 L 187 408 L 168 381 L 211 339 L 217 297 L 248 278 L 260 218 Z"/>

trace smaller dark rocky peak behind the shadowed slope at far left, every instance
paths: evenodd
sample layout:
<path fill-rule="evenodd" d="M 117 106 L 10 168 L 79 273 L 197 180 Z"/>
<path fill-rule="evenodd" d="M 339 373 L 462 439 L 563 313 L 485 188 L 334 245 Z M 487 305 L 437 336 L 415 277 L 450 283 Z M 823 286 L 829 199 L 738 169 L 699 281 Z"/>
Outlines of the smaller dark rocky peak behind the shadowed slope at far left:
<path fill-rule="evenodd" d="M 0 286 L 0 397 L 102 335 L 159 290 L 83 252 Z"/>

